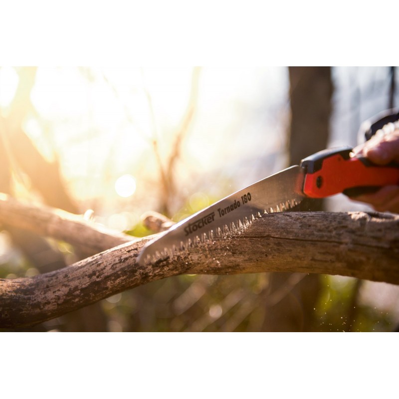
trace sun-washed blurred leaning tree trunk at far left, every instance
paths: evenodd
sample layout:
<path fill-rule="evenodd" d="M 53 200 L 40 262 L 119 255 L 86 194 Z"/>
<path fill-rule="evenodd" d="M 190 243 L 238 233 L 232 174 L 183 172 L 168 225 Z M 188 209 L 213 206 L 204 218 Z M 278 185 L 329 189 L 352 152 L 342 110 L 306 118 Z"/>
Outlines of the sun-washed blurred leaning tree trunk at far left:
<path fill-rule="evenodd" d="M 30 93 L 35 83 L 36 67 L 17 69 L 19 76 L 15 96 L 8 115 L 0 115 L 0 191 L 12 194 L 12 176 L 24 181 L 28 177 L 29 189 L 40 194 L 43 201 L 53 207 L 78 213 L 63 185 L 57 162 L 47 162 L 23 131 L 23 122 L 29 114 L 35 115 Z M 1 89 L 1 88 L 0 88 Z M 61 253 L 55 251 L 43 238 L 16 227 L 3 226 L 13 243 L 41 272 L 65 267 Z M 106 331 L 106 318 L 100 303 L 64 316 L 68 331 Z M 45 331 L 38 326 L 34 331 Z"/>

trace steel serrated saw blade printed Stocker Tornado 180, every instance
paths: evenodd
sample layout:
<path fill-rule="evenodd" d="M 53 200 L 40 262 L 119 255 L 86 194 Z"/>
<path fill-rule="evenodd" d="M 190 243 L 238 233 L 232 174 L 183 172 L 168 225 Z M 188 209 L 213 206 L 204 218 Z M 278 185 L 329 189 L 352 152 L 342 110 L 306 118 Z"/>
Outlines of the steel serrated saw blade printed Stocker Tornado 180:
<path fill-rule="evenodd" d="M 154 262 L 193 245 L 239 233 L 265 213 L 289 209 L 303 200 L 303 168 L 292 166 L 215 202 L 149 241 L 137 261 Z"/>

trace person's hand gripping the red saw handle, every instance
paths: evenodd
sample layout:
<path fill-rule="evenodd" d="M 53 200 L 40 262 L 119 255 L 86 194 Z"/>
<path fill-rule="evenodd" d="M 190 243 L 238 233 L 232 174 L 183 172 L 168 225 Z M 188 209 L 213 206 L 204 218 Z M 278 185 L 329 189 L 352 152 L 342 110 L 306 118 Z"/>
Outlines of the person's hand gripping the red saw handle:
<path fill-rule="evenodd" d="M 399 127 L 398 122 L 388 124 L 366 143 L 353 149 L 354 155 L 368 158 L 377 165 L 387 165 L 392 161 L 399 162 Z M 386 186 L 377 193 L 361 195 L 352 200 L 370 203 L 380 212 L 399 213 L 399 185 Z"/>

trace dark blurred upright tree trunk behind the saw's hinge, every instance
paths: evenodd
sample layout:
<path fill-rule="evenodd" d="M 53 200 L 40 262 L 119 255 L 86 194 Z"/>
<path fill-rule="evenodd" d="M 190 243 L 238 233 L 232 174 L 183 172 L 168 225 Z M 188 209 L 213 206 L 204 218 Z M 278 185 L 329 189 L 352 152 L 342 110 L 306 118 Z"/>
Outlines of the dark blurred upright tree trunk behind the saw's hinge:
<path fill-rule="evenodd" d="M 289 165 L 327 148 L 333 84 L 330 67 L 289 67 L 291 126 Z M 304 200 L 295 210 L 322 210 L 322 200 Z M 293 284 L 293 280 L 296 280 Z M 320 275 L 298 278 L 271 273 L 268 294 L 288 294 L 266 309 L 264 331 L 313 331 L 314 308 L 320 293 Z"/>

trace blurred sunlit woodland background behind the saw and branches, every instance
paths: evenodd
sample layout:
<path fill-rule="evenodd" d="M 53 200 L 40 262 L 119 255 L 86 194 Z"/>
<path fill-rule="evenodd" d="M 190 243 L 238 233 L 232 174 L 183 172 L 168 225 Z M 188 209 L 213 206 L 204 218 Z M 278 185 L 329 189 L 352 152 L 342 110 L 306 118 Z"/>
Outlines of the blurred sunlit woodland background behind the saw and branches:
<path fill-rule="evenodd" d="M 328 146 L 398 105 L 395 67 L 0 67 L 0 192 L 134 236 Z M 304 209 L 367 210 L 336 196 Z M 0 226 L 0 278 L 64 267 L 68 244 Z M 340 276 L 184 275 L 22 331 L 393 331 L 399 288 Z M 20 330 L 21 331 L 21 330 Z"/>

